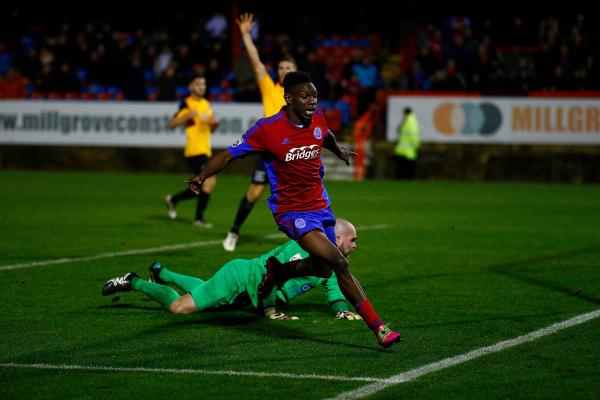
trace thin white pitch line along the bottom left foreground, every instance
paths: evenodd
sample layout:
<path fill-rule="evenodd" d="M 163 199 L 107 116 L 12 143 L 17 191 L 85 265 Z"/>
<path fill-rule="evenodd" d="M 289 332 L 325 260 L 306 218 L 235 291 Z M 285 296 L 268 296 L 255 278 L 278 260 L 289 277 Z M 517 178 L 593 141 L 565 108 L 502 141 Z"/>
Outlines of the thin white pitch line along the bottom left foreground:
<path fill-rule="evenodd" d="M 161 374 L 190 374 L 190 375 L 226 375 L 226 376 L 251 376 L 259 378 L 286 378 L 286 379 L 316 379 L 325 381 L 358 381 L 378 382 L 381 378 L 367 376 L 337 376 L 315 374 L 289 374 L 285 372 L 252 372 L 252 371 L 211 371 L 204 369 L 177 369 L 177 368 L 141 368 L 141 367 L 106 367 L 96 365 L 67 365 L 67 364 L 19 364 L 0 363 L 2 368 L 29 368 L 29 369 L 54 369 L 75 371 L 103 371 L 103 372 L 150 372 Z"/>

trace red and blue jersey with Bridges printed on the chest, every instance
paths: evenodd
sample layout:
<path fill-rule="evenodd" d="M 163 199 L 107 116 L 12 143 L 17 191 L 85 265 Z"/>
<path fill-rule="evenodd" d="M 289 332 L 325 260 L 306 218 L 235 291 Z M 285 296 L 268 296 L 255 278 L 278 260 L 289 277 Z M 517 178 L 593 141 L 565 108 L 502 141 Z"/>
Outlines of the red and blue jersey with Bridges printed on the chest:
<path fill-rule="evenodd" d="M 331 203 L 321 160 L 326 135 L 333 133 L 319 109 L 310 126 L 303 127 L 288 120 L 284 106 L 272 117 L 259 119 L 227 150 L 235 158 L 263 153 L 271 185 L 267 203 L 273 214 L 317 211 Z"/>

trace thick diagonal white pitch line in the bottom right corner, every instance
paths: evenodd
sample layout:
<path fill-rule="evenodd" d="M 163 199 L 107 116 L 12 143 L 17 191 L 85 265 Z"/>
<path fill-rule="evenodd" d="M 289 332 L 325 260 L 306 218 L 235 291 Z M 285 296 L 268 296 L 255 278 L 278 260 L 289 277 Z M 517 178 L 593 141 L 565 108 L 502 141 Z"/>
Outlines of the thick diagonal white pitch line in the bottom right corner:
<path fill-rule="evenodd" d="M 445 358 L 441 361 L 423 365 L 422 367 L 391 376 L 389 378 L 384 379 L 383 381 L 372 383 L 370 385 L 366 385 L 348 392 L 340 393 L 329 400 L 361 399 L 363 397 L 377 393 L 383 389 L 387 389 L 390 386 L 414 381 L 415 379 L 420 378 L 423 375 L 430 374 L 432 372 L 441 371 L 443 369 L 450 368 L 455 365 L 486 356 L 488 354 L 497 353 L 509 349 L 511 347 L 521 345 L 523 343 L 533 342 L 534 340 L 539 339 L 543 336 L 551 335 L 563 329 L 583 324 L 584 322 L 590 321 L 598 317 L 600 317 L 600 309 L 586 314 L 578 315 L 576 317 L 562 322 L 557 322 L 556 324 L 552 324 L 545 328 L 538 329 L 537 331 L 527 333 L 514 339 L 505 340 L 503 342 L 499 342 L 491 346 L 480 347 L 465 354 L 460 354 L 455 357 Z"/>

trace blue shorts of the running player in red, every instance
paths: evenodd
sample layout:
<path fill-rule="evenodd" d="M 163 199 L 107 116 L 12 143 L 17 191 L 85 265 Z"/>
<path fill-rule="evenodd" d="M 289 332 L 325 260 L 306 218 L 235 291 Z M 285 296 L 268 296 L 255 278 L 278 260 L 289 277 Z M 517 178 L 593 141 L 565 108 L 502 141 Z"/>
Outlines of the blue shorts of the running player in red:
<path fill-rule="evenodd" d="M 298 241 L 316 229 L 335 244 L 335 217 L 329 207 L 319 211 L 288 211 L 275 215 L 279 230 L 290 239 Z"/>

